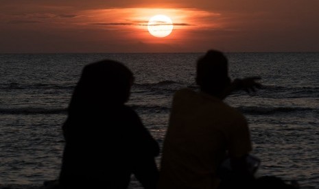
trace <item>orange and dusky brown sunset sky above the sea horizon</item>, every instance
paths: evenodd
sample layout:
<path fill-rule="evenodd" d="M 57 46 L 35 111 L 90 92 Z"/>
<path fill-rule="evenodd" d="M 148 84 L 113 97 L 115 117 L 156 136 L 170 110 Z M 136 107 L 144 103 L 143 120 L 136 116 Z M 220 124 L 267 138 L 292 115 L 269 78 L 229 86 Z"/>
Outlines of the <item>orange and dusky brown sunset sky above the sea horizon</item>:
<path fill-rule="evenodd" d="M 319 0 L 0 0 L 0 53 L 319 51 Z M 173 31 L 156 38 L 156 14 Z"/>

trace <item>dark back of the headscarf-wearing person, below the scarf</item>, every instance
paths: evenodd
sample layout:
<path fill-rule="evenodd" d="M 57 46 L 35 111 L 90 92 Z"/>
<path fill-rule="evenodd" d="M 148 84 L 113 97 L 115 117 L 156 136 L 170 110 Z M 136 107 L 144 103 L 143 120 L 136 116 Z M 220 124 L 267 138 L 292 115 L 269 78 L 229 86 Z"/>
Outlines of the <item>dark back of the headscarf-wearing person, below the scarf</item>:
<path fill-rule="evenodd" d="M 132 173 L 142 177 L 143 183 L 147 182 L 143 177 L 156 182 L 153 176 L 158 173 L 150 165 L 158 155 L 158 144 L 137 114 L 126 105 L 92 113 L 64 124 L 64 134 L 69 136 L 61 184 L 67 188 L 127 188 Z"/>

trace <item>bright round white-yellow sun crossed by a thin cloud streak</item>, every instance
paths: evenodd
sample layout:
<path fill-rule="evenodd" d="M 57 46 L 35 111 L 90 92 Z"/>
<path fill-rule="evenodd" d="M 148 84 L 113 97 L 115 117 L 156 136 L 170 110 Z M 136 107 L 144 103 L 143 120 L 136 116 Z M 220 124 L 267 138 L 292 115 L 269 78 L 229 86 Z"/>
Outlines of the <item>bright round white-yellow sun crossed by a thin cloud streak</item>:
<path fill-rule="evenodd" d="M 164 38 L 172 33 L 173 22 L 171 18 L 163 14 L 152 16 L 148 21 L 147 29 L 152 36 L 157 38 Z"/>

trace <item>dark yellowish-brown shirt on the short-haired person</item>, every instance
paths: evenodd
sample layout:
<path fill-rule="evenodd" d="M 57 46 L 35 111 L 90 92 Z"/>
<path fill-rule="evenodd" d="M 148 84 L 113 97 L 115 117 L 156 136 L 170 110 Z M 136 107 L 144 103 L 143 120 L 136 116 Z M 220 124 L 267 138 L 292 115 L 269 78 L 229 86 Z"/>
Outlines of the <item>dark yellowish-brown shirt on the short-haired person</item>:
<path fill-rule="evenodd" d="M 178 90 L 163 145 L 158 189 L 217 188 L 217 167 L 226 151 L 252 150 L 246 118 L 204 92 Z"/>

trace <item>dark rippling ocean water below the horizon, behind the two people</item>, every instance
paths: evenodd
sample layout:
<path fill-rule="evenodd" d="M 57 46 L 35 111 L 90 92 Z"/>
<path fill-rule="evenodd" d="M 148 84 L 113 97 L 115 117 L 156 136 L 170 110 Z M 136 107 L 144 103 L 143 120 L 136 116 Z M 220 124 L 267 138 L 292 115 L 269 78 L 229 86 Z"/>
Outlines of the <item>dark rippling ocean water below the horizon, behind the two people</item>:
<path fill-rule="evenodd" d="M 135 83 L 128 105 L 163 144 L 172 95 L 195 84 L 203 53 L 0 54 L 0 188 L 32 188 L 60 171 L 61 126 L 84 65 L 112 59 Z M 258 175 L 319 188 L 319 53 L 226 53 L 231 78 L 260 76 L 263 88 L 225 101 L 248 119 Z M 156 159 L 160 162 L 160 157 Z M 130 188 L 141 188 L 132 177 Z"/>

